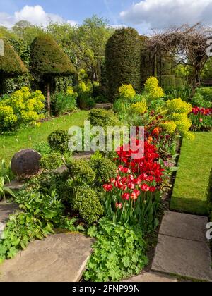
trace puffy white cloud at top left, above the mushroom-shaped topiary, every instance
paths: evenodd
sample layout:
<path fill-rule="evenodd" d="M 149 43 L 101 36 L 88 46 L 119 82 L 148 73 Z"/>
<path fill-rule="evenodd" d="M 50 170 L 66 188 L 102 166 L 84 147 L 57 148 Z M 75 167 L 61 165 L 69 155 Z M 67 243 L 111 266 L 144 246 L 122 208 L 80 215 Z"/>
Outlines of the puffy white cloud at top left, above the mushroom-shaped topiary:
<path fill-rule="evenodd" d="M 20 11 L 16 11 L 13 16 L 7 13 L 0 13 L 0 25 L 12 27 L 19 20 L 28 20 L 34 25 L 47 26 L 50 22 L 69 23 L 76 25 L 74 20 L 64 20 L 61 16 L 53 13 L 46 13 L 42 6 L 24 6 Z"/>

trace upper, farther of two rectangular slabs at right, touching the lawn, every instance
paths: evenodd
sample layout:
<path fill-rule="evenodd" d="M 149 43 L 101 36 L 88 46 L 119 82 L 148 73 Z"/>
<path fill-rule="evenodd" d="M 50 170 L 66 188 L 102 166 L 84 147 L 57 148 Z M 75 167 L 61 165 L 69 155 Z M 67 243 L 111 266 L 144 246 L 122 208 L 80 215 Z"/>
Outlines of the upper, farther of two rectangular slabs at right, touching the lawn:
<path fill-rule="evenodd" d="M 206 242 L 207 223 L 207 217 L 165 211 L 159 233 L 175 238 Z"/>

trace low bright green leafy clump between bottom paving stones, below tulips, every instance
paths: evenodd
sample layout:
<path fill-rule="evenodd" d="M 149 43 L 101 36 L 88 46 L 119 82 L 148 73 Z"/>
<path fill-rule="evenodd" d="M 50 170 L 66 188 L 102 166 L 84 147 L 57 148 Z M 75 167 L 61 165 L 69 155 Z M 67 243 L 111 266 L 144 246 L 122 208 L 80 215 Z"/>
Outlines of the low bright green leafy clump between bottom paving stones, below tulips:
<path fill-rule="evenodd" d="M 130 226 L 113 224 L 106 218 L 99 221 L 99 226 L 91 227 L 88 235 L 97 239 L 93 245 L 85 280 L 93 282 L 120 281 L 139 274 L 148 264 L 146 243 L 141 230 Z"/>

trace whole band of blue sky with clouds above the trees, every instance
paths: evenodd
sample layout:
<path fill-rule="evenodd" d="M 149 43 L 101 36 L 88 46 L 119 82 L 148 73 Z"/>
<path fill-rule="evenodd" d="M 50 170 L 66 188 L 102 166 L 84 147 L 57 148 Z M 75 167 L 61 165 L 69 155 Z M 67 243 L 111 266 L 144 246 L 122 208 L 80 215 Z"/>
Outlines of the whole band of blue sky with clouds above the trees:
<path fill-rule="evenodd" d="M 212 26 L 212 0 L 0 0 L 0 25 L 6 27 L 18 20 L 76 25 L 93 14 L 107 18 L 110 25 L 128 25 L 145 34 L 151 28 L 199 21 Z"/>

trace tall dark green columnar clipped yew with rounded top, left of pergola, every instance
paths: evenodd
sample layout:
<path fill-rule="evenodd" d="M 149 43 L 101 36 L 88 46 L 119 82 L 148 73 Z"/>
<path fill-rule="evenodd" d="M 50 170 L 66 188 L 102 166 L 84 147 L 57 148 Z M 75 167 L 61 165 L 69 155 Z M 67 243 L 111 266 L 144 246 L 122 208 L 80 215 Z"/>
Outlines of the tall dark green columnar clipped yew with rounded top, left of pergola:
<path fill-rule="evenodd" d="M 139 34 L 132 28 L 116 30 L 106 45 L 108 95 L 114 101 L 122 84 L 141 90 Z"/>

